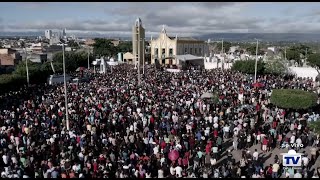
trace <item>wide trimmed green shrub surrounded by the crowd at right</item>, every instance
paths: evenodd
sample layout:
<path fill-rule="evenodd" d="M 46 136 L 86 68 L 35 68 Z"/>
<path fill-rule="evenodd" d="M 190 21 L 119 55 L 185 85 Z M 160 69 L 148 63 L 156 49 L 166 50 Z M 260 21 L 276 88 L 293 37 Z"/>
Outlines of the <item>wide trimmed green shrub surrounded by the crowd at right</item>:
<path fill-rule="evenodd" d="M 317 95 L 298 89 L 274 89 L 271 103 L 280 108 L 309 109 L 317 105 Z"/>

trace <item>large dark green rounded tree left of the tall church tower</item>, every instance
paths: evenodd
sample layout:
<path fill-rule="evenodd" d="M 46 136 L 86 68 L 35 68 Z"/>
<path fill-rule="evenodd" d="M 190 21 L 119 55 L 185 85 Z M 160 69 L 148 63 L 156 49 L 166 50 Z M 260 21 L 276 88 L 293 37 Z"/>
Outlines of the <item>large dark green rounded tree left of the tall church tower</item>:
<path fill-rule="evenodd" d="M 93 44 L 93 53 L 98 57 L 113 57 L 117 55 L 117 48 L 109 39 L 96 38 Z"/>

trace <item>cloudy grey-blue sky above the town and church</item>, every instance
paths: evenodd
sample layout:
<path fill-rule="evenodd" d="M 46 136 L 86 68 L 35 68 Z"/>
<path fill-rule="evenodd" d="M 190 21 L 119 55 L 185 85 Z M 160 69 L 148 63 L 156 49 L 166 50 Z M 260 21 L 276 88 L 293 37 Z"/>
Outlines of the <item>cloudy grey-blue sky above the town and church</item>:
<path fill-rule="evenodd" d="M 319 33 L 319 2 L 0 2 L 1 32 L 67 29 L 69 34 Z"/>

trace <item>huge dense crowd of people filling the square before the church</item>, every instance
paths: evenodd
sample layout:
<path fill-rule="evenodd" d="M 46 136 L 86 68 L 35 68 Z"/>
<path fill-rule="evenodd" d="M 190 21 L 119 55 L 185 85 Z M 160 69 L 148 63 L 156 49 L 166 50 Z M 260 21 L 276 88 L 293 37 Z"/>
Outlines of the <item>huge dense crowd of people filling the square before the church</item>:
<path fill-rule="evenodd" d="M 253 87 L 230 70 L 148 67 L 138 84 L 130 65 L 90 76 L 68 84 L 67 107 L 61 84 L 1 97 L 2 178 L 319 178 L 319 134 L 307 123 L 318 112 L 270 104 L 274 88 L 318 93 L 311 79 L 258 76 L 263 86 Z M 292 144 L 305 151 L 301 168 L 280 155 L 266 163 Z"/>

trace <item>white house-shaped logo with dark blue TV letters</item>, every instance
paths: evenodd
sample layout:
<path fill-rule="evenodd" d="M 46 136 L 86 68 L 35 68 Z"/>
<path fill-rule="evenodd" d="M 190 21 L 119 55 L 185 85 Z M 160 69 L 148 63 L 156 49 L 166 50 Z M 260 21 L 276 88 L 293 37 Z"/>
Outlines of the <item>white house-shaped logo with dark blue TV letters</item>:
<path fill-rule="evenodd" d="M 295 150 L 289 150 L 288 153 L 281 153 L 282 164 L 287 167 L 300 167 L 302 165 L 301 153 L 297 153 Z"/>

